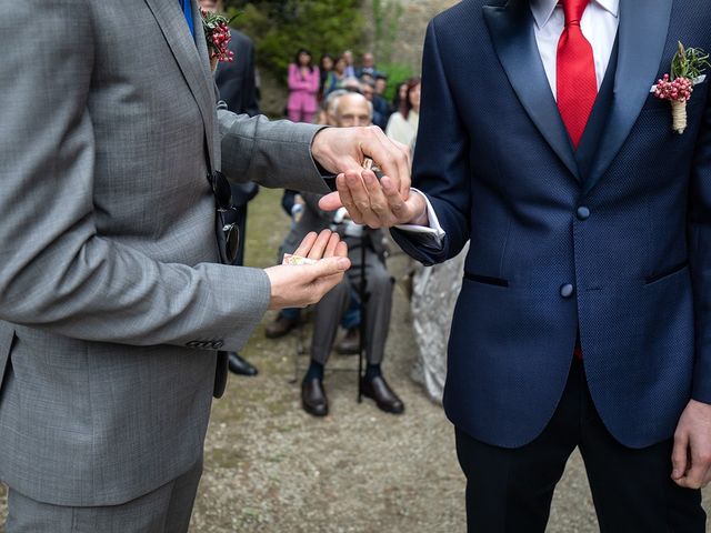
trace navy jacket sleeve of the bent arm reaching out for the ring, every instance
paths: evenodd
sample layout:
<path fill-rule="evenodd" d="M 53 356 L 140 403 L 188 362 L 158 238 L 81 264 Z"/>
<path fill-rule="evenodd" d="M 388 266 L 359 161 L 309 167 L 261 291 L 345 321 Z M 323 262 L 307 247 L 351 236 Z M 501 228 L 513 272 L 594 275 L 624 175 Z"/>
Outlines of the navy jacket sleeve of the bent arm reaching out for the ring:
<path fill-rule="evenodd" d="M 445 235 L 441 247 L 432 247 L 428 244 L 431 241 L 391 230 L 405 253 L 424 264 L 453 258 L 470 234 L 470 140 L 447 79 L 435 21 L 430 22 L 424 40 L 419 148 L 414 151 L 412 185 L 427 194 Z"/>

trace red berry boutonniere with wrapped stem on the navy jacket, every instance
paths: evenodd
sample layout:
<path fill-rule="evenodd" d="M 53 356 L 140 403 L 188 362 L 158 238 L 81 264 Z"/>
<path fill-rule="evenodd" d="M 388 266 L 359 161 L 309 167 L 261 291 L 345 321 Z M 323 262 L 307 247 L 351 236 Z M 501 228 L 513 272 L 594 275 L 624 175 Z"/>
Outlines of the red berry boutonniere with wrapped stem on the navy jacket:
<path fill-rule="evenodd" d="M 687 102 L 691 99 L 693 86 L 701 83 L 709 63 L 709 54 L 699 48 L 687 48 L 679 43 L 679 50 L 671 61 L 671 76 L 664 74 L 652 88 L 654 95 L 671 102 L 672 130 L 681 134 L 687 129 Z"/>

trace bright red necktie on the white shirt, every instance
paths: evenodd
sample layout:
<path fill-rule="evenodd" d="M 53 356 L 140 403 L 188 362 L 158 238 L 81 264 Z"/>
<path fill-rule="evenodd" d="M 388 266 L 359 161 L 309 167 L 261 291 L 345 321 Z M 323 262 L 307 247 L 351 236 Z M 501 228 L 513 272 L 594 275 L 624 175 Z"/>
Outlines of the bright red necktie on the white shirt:
<path fill-rule="evenodd" d="M 565 28 L 558 41 L 558 109 L 573 147 L 578 148 L 598 95 L 592 47 L 580 29 L 580 19 L 590 0 L 562 0 Z"/>

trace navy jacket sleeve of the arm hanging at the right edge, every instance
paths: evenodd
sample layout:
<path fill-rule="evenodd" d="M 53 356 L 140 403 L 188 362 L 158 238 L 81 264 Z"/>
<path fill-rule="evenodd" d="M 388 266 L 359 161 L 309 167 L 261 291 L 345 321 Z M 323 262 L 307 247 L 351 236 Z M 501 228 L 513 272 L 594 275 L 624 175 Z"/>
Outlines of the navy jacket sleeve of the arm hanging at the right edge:
<path fill-rule="evenodd" d="M 689 252 L 697 338 L 692 398 L 711 404 L 711 92 L 691 179 Z"/>

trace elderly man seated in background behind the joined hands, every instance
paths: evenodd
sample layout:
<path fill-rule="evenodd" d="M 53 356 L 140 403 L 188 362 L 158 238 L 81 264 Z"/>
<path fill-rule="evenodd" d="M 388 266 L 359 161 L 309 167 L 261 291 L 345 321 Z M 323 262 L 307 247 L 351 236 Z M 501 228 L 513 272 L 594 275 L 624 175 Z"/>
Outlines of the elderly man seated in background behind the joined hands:
<path fill-rule="evenodd" d="M 357 92 L 338 95 L 329 110 L 336 125 L 369 125 L 372 121 L 372 104 Z M 385 382 L 380 363 L 383 360 L 385 340 L 390 326 L 393 279 L 385 269 L 382 230 L 371 230 L 354 224 L 344 210 L 337 213 L 319 209 L 317 194 L 304 194 L 304 212 L 299 220 L 293 237 L 309 231 L 332 228 L 348 244 L 349 258 L 353 264 L 347 278 L 316 305 L 313 318 L 313 340 L 311 364 L 301 384 L 301 401 L 306 412 L 314 416 L 326 416 L 329 412 L 323 389 L 323 369 L 331 354 L 339 321 L 348 309 L 353 294 L 358 294 L 361 271 L 365 272 L 365 325 L 364 348 L 368 360 L 365 375 L 361 378 L 363 394 L 374 400 L 378 408 L 388 413 L 400 414 L 404 404 Z M 361 247 L 365 245 L 364 269 L 361 269 Z M 354 290 L 353 290 L 354 289 Z"/>

